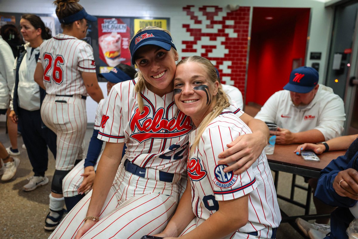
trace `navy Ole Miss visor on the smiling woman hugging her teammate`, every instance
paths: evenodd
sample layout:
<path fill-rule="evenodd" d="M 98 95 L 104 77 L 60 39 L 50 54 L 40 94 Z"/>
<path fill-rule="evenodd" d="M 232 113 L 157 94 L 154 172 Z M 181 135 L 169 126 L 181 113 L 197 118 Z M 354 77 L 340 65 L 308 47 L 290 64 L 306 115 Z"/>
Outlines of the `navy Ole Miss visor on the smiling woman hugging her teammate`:
<path fill-rule="evenodd" d="M 171 47 L 175 50 L 174 42 L 171 36 L 163 30 L 146 30 L 136 34 L 131 40 L 129 49 L 132 56 L 132 64 L 135 64 L 136 51 L 146 45 L 154 45 L 169 51 Z"/>

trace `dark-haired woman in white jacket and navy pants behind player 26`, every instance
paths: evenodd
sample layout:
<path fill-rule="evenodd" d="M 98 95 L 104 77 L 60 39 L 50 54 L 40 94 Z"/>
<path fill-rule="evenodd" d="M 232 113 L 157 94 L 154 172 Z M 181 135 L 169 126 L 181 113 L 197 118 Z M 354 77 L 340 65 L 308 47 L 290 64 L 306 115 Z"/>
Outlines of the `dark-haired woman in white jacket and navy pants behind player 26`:
<path fill-rule="evenodd" d="M 32 191 L 48 183 L 48 178 L 45 177 L 48 164 L 47 147 L 56 158 L 56 134 L 41 121 L 40 99 L 43 99 L 45 93 L 34 81 L 39 47 L 44 40 L 51 38 L 51 31 L 45 27 L 41 18 L 34 14 L 21 16 L 20 27 L 21 34 L 28 43 L 20 47 L 14 63 L 15 84 L 9 116 L 13 122 L 18 122 L 20 125 L 34 171 L 34 176 L 30 178 L 23 190 Z"/>

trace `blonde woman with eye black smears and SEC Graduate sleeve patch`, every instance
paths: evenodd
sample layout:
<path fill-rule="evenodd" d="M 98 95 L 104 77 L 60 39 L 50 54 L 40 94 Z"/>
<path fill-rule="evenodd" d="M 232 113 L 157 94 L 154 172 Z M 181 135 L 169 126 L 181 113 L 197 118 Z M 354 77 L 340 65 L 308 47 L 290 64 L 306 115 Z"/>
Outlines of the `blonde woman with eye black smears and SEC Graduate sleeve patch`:
<path fill-rule="evenodd" d="M 226 144 L 251 134 L 251 130 L 229 109 L 229 99 L 219 86 L 213 64 L 199 56 L 180 61 L 174 77 L 174 98 L 196 128 L 189 138 L 187 188 L 173 218 L 156 236 L 275 238 L 281 214 L 264 151 L 240 175 L 225 173 L 228 165 L 218 163 L 217 155 Z"/>

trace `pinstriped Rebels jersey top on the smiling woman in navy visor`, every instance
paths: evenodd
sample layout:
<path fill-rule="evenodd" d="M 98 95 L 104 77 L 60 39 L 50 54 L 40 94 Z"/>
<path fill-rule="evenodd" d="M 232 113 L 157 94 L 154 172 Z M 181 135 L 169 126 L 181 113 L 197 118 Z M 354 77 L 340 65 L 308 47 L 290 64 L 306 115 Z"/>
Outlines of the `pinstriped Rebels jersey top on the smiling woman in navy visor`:
<path fill-rule="evenodd" d="M 186 143 L 188 142 L 186 132 L 192 128 L 190 119 L 186 116 L 178 116 L 180 111 L 173 103 L 172 92 L 164 97 L 159 97 L 146 89 L 141 92 L 141 95 L 147 115 L 142 119 L 134 119 L 134 117 L 142 117 L 136 111 L 138 104 L 133 98 L 135 82 L 136 80 L 118 83 L 112 88 L 107 98 L 106 110 L 103 112 L 109 116 L 109 119 L 105 128 L 100 129 L 98 137 L 109 142 L 114 142 L 113 140 L 116 140 L 115 142 L 126 141 L 128 147 L 126 158 L 138 166 L 169 173 L 181 173 L 183 169 L 180 169 L 182 167 L 178 167 L 178 165 L 183 165 L 183 161 L 186 159 L 184 157 L 187 153 Z M 129 97 L 118 97 L 128 95 L 128 92 L 130 92 Z M 155 115 L 164 117 L 157 119 L 154 118 Z M 136 120 L 135 123 L 134 120 Z M 153 122 L 153 126 L 144 123 L 149 121 Z M 187 125 L 188 122 L 190 125 Z M 156 124 L 158 126 L 154 128 Z M 176 125 L 182 125 L 182 128 L 177 128 Z M 187 128 L 188 126 L 190 128 Z M 150 130 L 148 129 L 148 134 L 139 129 L 148 127 L 151 127 Z M 145 139 L 146 136 L 149 138 Z M 167 139 L 165 140 L 165 138 Z"/>

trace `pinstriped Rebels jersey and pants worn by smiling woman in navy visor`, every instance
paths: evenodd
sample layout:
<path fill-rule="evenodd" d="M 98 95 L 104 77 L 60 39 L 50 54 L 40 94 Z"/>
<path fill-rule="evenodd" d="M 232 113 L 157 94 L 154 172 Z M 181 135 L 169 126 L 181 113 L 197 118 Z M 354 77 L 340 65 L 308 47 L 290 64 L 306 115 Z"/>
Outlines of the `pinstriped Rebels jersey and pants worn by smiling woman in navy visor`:
<path fill-rule="evenodd" d="M 137 79 L 112 87 L 102 112 L 98 138 L 125 142 L 124 159 L 146 168 L 144 177 L 120 164 L 100 221 L 82 238 L 137 239 L 162 231 L 174 214 L 180 193 L 180 175 L 185 171 L 189 132 L 193 124 L 174 104 L 174 94 L 163 97 L 148 89 L 141 92 L 144 112 L 139 114 L 134 86 Z M 242 111 L 236 109 L 237 114 Z M 173 182 L 159 180 L 159 172 L 173 173 Z M 92 191 L 70 212 L 49 238 L 74 238 L 83 225 Z"/>

